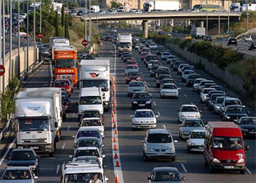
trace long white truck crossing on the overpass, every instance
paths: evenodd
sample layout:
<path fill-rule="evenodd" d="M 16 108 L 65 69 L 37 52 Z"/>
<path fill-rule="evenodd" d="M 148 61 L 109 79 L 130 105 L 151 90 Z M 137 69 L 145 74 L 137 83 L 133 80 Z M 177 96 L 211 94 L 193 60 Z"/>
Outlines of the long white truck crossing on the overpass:
<path fill-rule="evenodd" d="M 144 2 L 143 10 L 151 11 L 178 11 L 179 1 L 148 1 Z"/>

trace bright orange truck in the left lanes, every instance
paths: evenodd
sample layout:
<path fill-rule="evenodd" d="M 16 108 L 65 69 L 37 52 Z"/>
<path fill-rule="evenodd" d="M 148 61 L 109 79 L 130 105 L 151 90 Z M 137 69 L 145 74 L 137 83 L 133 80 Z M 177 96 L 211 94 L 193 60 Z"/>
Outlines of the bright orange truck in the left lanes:
<path fill-rule="evenodd" d="M 77 49 L 74 46 L 54 47 L 54 79 L 71 79 L 77 85 Z"/>

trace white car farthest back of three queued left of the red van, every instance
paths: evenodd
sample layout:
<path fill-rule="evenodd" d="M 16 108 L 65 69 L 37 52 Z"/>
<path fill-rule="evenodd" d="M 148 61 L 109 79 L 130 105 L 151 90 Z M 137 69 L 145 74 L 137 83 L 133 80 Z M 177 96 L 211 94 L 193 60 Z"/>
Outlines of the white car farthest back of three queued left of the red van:
<path fill-rule="evenodd" d="M 201 111 L 197 108 L 195 104 L 183 104 L 181 108 L 178 109 L 178 122 L 181 123 L 184 119 L 189 118 L 201 118 Z"/>

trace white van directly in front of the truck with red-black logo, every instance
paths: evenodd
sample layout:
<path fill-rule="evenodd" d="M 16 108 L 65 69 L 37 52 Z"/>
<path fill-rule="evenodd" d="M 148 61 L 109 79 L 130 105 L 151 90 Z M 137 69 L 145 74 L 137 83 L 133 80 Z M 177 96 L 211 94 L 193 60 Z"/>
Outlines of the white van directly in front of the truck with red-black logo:
<path fill-rule="evenodd" d="M 79 95 L 79 119 L 83 111 L 100 111 L 103 115 L 103 97 L 98 87 L 81 88 Z"/>

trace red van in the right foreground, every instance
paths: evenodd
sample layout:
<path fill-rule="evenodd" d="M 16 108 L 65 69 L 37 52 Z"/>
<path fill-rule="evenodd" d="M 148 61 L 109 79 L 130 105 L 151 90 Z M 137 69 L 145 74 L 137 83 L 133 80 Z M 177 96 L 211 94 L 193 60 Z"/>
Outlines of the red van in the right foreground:
<path fill-rule="evenodd" d="M 205 133 L 205 165 L 210 172 L 217 169 L 239 170 L 244 174 L 245 153 L 242 132 L 234 122 L 210 121 Z"/>

